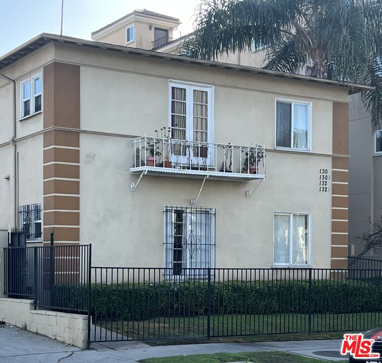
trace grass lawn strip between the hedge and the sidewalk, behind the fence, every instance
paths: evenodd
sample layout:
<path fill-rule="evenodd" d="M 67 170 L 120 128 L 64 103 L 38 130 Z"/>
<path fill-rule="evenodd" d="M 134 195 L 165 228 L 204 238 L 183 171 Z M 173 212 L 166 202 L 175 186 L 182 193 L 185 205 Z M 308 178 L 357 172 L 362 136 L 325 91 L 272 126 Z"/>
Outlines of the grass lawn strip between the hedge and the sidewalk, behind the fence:
<path fill-rule="evenodd" d="M 130 339 L 199 338 L 207 336 L 207 317 L 161 317 L 144 321 L 100 321 L 94 323 Z M 382 325 L 382 313 L 362 314 L 314 314 L 311 319 L 312 332 L 362 331 Z M 214 315 L 210 320 L 210 332 L 214 337 L 249 336 L 261 334 L 306 333 L 307 314 L 268 315 Z M 291 340 L 293 339 L 293 334 Z M 177 340 L 177 339 L 174 339 Z M 186 339 L 181 339 L 186 340 Z M 266 338 L 266 340 L 269 340 Z M 211 340 L 210 340 L 211 341 Z M 174 342 L 172 343 L 174 344 Z M 157 344 L 156 344 L 157 345 Z"/>

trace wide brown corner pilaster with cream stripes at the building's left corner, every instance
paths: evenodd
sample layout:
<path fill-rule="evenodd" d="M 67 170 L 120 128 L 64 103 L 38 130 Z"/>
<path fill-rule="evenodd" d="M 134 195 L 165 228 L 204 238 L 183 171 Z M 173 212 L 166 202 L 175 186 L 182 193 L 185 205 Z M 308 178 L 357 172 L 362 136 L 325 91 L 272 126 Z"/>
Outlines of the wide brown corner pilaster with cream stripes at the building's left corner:
<path fill-rule="evenodd" d="M 80 68 L 53 62 L 44 67 L 44 129 L 80 128 Z M 80 139 L 78 132 L 50 130 L 43 136 L 43 239 L 80 241 Z"/>

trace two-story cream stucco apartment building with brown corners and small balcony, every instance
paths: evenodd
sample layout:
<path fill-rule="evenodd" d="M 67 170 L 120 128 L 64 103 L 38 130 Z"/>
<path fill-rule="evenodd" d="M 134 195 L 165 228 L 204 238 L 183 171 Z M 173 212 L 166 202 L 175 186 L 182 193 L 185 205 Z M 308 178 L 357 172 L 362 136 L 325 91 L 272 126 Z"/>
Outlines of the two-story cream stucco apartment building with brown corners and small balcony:
<path fill-rule="evenodd" d="M 367 87 L 51 34 L 0 74 L 0 227 L 28 243 L 175 274 L 346 266 Z"/>

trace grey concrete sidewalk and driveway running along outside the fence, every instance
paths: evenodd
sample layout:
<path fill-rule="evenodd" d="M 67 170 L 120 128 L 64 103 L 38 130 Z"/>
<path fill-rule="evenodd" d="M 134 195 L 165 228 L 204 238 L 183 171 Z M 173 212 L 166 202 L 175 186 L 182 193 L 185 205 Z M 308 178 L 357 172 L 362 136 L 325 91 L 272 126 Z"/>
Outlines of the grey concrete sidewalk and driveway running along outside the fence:
<path fill-rule="evenodd" d="M 315 351 L 339 351 L 341 340 L 210 343 L 151 347 L 135 341 L 94 344 L 92 350 L 67 346 L 16 327 L 0 328 L 0 363 L 116 363 L 173 355 L 281 350 L 315 358 Z M 325 360 L 344 360 L 328 358 Z"/>

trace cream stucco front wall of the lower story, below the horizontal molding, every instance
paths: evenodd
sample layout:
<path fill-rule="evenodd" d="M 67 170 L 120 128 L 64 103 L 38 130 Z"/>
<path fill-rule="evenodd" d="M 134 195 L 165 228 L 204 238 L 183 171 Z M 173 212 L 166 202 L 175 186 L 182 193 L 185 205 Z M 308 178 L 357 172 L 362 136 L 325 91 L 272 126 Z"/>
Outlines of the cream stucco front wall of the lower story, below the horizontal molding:
<path fill-rule="evenodd" d="M 102 145 L 100 148 L 99 145 Z M 189 206 L 200 179 L 129 173 L 129 139 L 81 134 L 80 240 L 92 243 L 95 266 L 163 266 L 163 207 Z M 312 265 L 330 268 L 331 195 L 319 193 L 319 168 L 331 158 L 268 152 L 267 178 L 251 198 L 256 181 L 207 180 L 198 205 L 216 209 L 216 267 L 270 267 L 274 212 L 311 213 Z"/>

